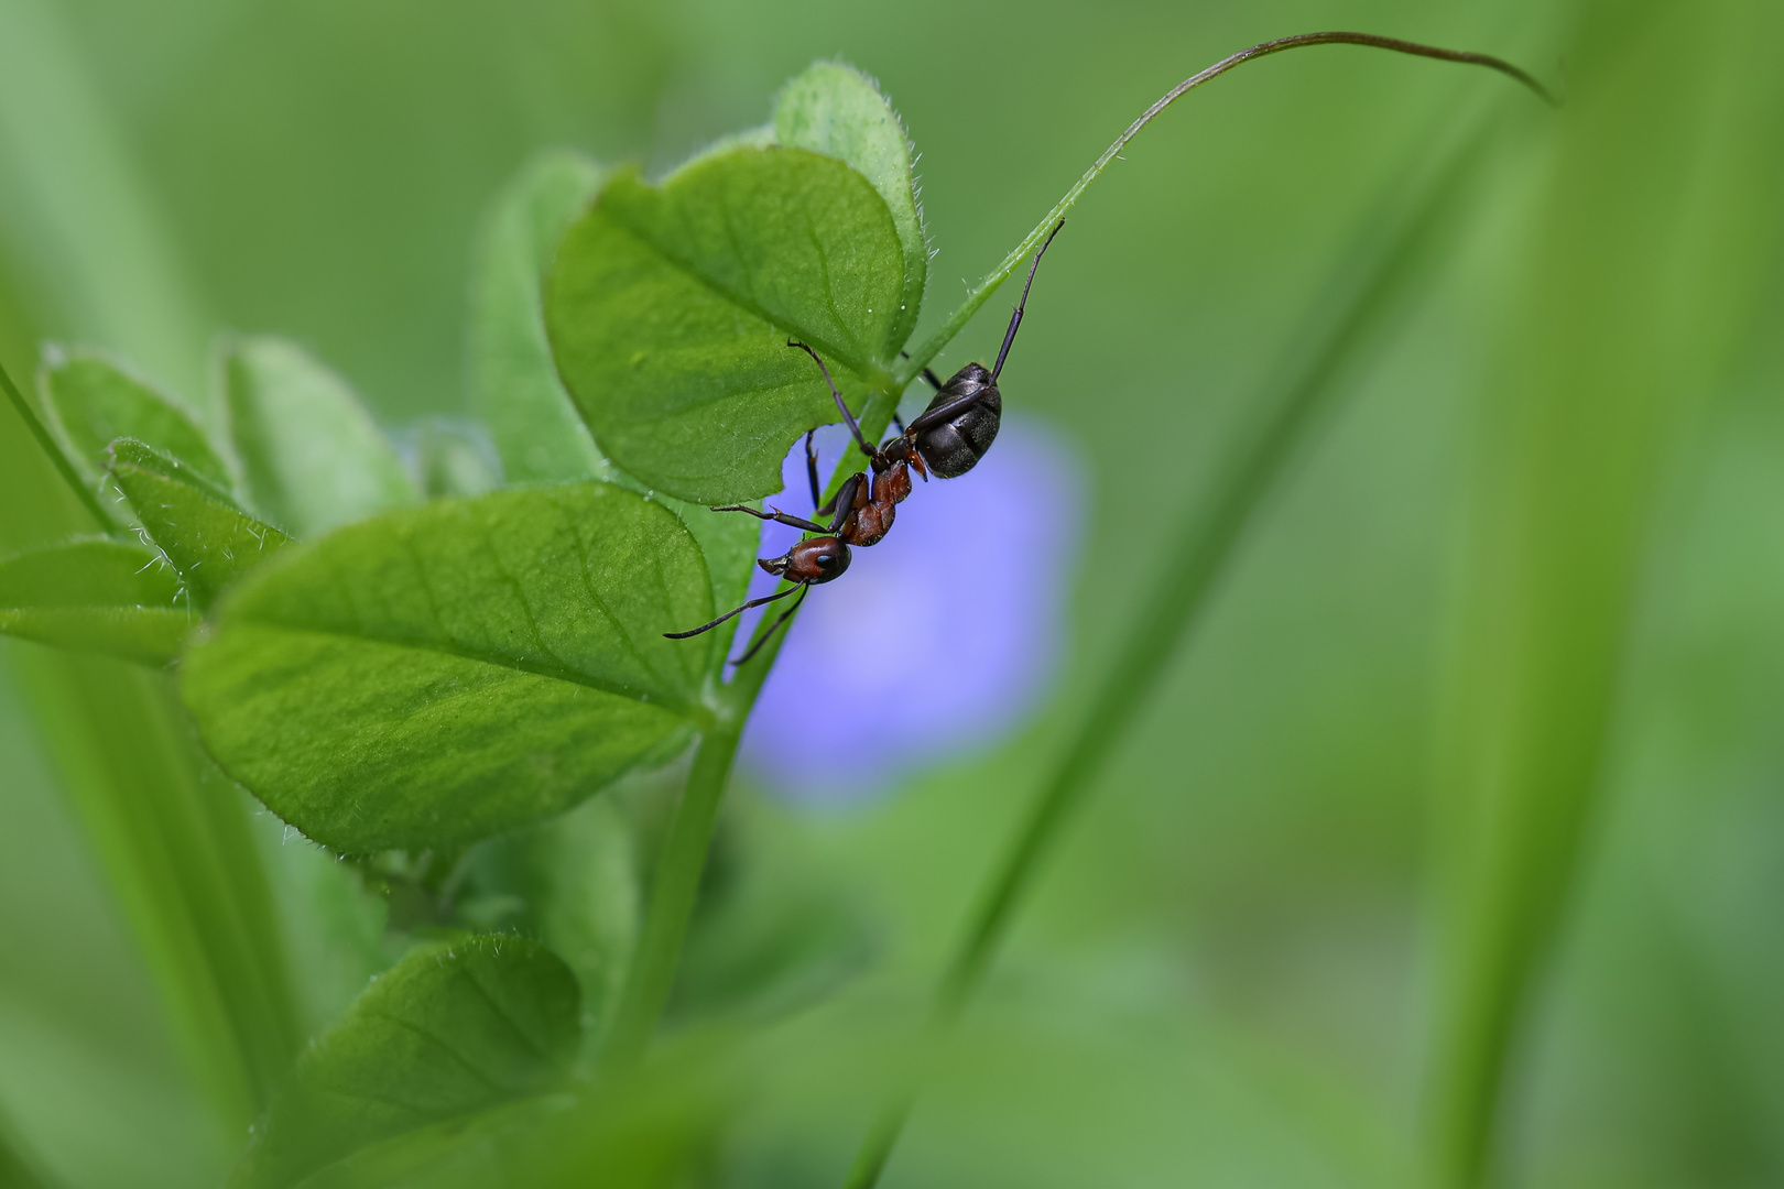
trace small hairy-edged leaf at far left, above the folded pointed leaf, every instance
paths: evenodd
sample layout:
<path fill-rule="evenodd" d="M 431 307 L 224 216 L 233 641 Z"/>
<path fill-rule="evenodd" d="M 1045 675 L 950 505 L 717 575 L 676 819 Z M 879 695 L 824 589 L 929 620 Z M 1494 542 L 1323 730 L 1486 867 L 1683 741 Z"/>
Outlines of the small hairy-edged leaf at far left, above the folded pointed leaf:
<path fill-rule="evenodd" d="M 228 465 L 180 403 L 100 351 L 48 348 L 37 394 L 70 458 L 93 480 L 105 472 L 105 447 L 134 437 L 212 483 L 230 483 Z"/>

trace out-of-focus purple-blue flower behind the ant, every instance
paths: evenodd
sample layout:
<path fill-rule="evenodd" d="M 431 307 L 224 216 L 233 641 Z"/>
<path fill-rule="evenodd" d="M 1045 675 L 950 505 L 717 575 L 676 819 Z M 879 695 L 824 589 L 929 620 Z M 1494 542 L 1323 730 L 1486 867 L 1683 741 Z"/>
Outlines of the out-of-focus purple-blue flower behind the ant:
<path fill-rule="evenodd" d="M 822 476 L 840 430 L 819 433 Z M 787 488 L 769 503 L 810 515 L 803 446 L 781 472 Z M 1035 708 L 1063 652 L 1079 504 L 1069 449 L 1020 417 L 1004 417 L 970 474 L 917 481 L 892 533 L 805 601 L 744 733 L 744 761 L 796 800 L 835 804 L 992 743 Z M 799 538 L 764 528 L 762 556 Z M 758 572 L 751 595 L 772 586 Z"/>

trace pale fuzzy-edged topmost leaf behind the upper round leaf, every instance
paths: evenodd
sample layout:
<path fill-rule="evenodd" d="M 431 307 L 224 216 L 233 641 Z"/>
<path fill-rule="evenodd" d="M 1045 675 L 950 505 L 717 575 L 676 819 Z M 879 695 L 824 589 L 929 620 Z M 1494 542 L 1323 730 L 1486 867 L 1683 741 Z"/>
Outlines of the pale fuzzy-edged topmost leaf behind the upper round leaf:
<path fill-rule="evenodd" d="M 814 62 L 774 102 L 774 137 L 855 166 L 874 184 L 904 246 L 904 294 L 892 332 L 903 342 L 917 326 L 929 275 L 929 239 L 912 180 L 912 143 L 872 78 L 842 62 Z"/>

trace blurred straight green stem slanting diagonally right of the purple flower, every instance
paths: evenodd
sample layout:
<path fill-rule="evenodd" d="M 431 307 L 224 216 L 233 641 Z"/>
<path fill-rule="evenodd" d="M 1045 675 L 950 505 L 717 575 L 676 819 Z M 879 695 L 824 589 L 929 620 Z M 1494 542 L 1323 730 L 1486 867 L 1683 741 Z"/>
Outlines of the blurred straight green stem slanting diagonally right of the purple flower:
<path fill-rule="evenodd" d="M 1286 463 L 1336 399 L 1345 373 L 1399 307 L 1409 283 L 1431 264 L 1429 250 L 1454 198 L 1479 159 L 1481 121 L 1452 141 L 1441 166 L 1415 164 L 1388 189 L 1388 216 L 1365 230 L 1345 255 L 1322 299 L 1292 342 L 1292 360 L 1263 387 L 1261 415 L 1217 476 L 1202 510 L 1174 535 L 1176 545 L 1154 579 L 1131 629 L 1115 649 L 1090 709 L 1072 731 L 1053 775 L 1042 784 L 979 898 L 965 936 L 937 986 L 917 1073 L 896 1087 L 856 1153 L 844 1185 L 880 1182 L 915 1102 L 917 1077 L 985 979 L 1042 859 L 1058 843 L 1108 756 L 1122 743 L 1160 676 L 1201 622 L 1208 595 L 1229 569 L 1245 531 L 1281 485 Z M 1429 155 L 1420 150 L 1420 157 Z"/>

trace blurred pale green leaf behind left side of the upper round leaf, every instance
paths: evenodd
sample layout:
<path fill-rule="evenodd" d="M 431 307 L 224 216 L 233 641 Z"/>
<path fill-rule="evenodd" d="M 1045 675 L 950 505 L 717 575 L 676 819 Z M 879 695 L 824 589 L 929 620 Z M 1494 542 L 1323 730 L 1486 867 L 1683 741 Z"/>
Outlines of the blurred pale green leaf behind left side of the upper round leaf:
<path fill-rule="evenodd" d="M 471 287 L 473 401 L 512 483 L 598 478 L 601 453 L 558 381 L 541 285 L 564 228 L 601 184 L 571 152 L 528 162 L 496 196 Z"/>

